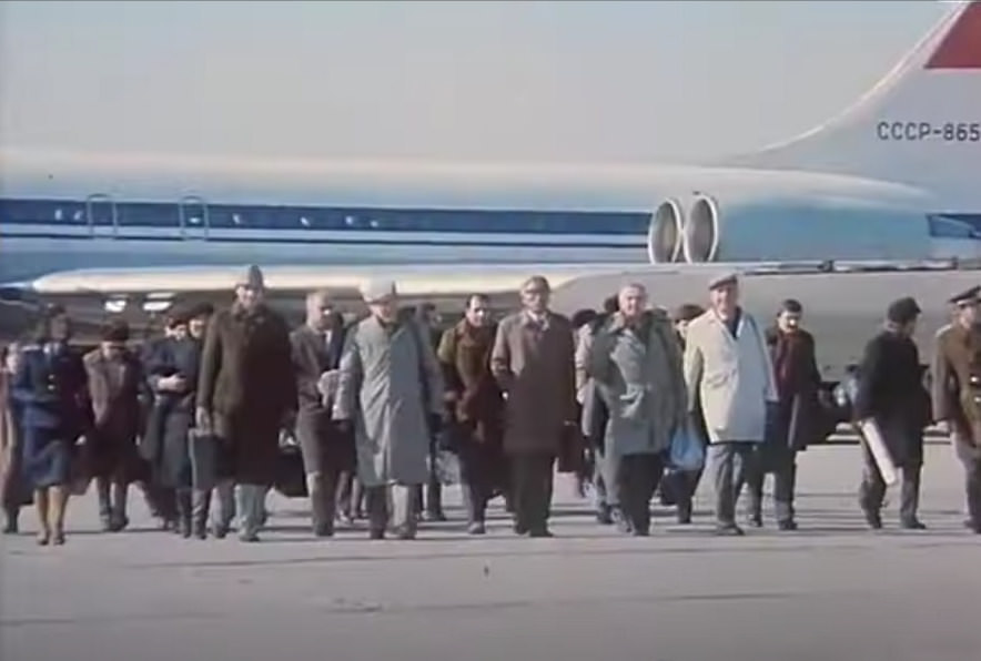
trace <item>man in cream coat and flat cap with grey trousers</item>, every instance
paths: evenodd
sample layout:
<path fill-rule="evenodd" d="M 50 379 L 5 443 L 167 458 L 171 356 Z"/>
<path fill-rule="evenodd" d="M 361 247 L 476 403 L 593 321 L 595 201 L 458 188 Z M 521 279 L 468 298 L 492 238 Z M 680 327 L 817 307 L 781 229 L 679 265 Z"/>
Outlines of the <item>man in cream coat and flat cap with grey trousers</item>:
<path fill-rule="evenodd" d="M 763 441 L 767 408 L 778 401 L 777 386 L 763 332 L 739 306 L 738 277 L 712 278 L 709 301 L 711 308 L 688 325 L 688 407 L 694 415 L 700 403 L 705 416 L 717 530 L 739 536 L 736 501 L 752 446 Z"/>

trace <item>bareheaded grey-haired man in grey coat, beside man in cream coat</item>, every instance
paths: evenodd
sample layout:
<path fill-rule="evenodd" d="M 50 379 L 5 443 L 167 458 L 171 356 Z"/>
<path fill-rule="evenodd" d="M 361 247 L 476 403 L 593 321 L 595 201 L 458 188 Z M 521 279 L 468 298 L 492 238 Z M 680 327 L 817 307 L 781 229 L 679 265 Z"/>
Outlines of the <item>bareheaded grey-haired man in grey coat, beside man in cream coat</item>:
<path fill-rule="evenodd" d="M 619 293 L 619 312 L 596 334 L 588 370 L 606 403 L 606 484 L 617 492 L 621 529 L 646 537 L 663 455 L 687 416 L 681 349 L 671 321 L 647 311 L 647 291 Z"/>

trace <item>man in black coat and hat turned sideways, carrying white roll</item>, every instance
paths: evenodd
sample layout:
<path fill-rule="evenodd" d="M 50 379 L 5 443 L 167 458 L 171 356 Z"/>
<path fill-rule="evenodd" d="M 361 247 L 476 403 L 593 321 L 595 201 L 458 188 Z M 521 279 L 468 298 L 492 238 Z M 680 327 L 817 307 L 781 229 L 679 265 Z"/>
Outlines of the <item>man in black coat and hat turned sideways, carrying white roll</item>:
<path fill-rule="evenodd" d="M 900 526 L 926 528 L 917 511 L 923 466 L 923 430 L 930 424 L 930 396 L 923 387 L 920 354 L 913 342 L 920 306 L 910 297 L 889 305 L 886 326 L 866 345 L 859 366 L 854 418 L 873 420 L 882 434 L 893 464 L 902 474 Z M 868 445 L 862 441 L 864 469 L 859 505 L 869 527 L 882 527 L 886 481 Z"/>

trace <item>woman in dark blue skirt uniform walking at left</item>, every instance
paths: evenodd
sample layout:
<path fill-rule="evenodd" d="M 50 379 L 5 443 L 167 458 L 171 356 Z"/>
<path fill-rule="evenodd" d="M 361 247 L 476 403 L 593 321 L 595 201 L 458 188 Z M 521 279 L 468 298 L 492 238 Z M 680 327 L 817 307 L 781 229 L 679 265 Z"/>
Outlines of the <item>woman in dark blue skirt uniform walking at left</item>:
<path fill-rule="evenodd" d="M 71 322 L 52 307 L 36 328 L 13 377 L 11 394 L 22 408 L 23 475 L 34 489 L 41 531 L 38 543 L 64 543 L 71 464 L 77 443 L 91 428 L 81 356 L 69 346 Z"/>

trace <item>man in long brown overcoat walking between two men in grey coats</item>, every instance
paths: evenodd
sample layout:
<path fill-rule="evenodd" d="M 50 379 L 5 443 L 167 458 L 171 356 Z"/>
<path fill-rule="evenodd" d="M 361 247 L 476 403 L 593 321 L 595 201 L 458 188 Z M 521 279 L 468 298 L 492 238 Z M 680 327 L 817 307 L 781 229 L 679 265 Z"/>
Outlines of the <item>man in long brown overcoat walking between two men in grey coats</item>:
<path fill-rule="evenodd" d="M 548 281 L 522 285 L 524 309 L 497 328 L 492 369 L 506 393 L 504 451 L 512 462 L 515 532 L 552 537 L 548 515 L 555 459 L 576 430 L 573 325 L 548 309 Z"/>

